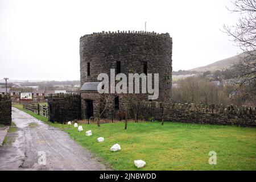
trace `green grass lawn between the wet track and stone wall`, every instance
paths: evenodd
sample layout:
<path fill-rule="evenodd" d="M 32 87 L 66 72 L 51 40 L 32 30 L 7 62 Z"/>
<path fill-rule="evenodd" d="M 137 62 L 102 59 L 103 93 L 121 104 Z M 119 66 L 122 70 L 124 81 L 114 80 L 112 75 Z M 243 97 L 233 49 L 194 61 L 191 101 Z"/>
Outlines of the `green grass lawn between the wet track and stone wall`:
<path fill-rule="evenodd" d="M 58 123 L 81 146 L 100 157 L 103 163 L 117 170 L 256 170 L 256 129 L 236 126 L 216 126 L 187 123 L 160 122 L 109 123 L 82 125 L 84 131 Z M 92 130 L 93 135 L 85 136 Z M 105 142 L 98 143 L 97 138 Z M 110 151 L 113 144 L 122 150 Z M 217 165 L 209 165 L 209 151 L 217 152 Z M 142 159 L 147 164 L 142 169 L 134 167 L 134 160 Z"/>

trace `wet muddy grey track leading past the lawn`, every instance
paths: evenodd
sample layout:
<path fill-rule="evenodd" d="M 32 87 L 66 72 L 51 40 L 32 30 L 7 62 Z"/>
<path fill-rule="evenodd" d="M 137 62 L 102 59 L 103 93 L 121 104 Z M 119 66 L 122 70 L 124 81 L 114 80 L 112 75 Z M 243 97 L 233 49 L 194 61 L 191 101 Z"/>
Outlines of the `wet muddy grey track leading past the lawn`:
<path fill-rule="evenodd" d="M 13 107 L 15 142 L 0 147 L 0 170 L 108 170 L 68 134 Z M 34 122 L 35 127 L 28 126 Z M 38 163 L 46 152 L 46 165 Z"/>

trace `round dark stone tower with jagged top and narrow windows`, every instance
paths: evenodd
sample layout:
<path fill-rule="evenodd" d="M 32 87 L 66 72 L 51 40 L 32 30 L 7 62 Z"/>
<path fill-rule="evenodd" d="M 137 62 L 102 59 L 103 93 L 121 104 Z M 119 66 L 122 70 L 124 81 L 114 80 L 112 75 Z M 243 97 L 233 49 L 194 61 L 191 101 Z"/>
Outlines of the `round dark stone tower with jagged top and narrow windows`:
<path fill-rule="evenodd" d="M 95 117 L 100 108 L 97 76 L 115 69 L 115 74 L 159 73 L 159 98 L 171 100 L 172 38 L 168 33 L 144 31 L 100 32 L 80 38 L 80 81 L 82 118 Z M 154 76 L 153 76 L 154 80 Z M 141 99 L 142 97 L 140 97 Z M 145 97 L 147 99 L 147 97 Z M 115 111 L 123 107 L 123 97 L 114 98 Z"/>

